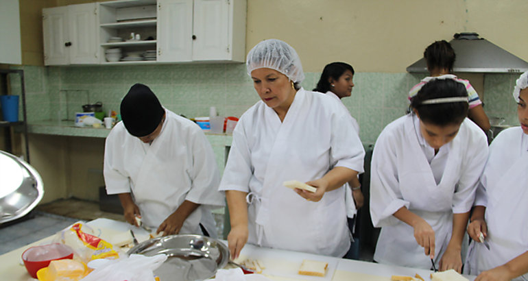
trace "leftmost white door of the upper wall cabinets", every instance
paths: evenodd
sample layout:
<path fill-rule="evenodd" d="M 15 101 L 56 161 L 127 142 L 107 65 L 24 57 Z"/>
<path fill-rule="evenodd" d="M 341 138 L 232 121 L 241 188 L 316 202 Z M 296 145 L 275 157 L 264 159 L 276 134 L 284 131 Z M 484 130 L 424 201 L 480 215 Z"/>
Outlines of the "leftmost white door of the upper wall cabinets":
<path fill-rule="evenodd" d="M 44 64 L 69 64 L 68 7 L 43 9 Z"/>

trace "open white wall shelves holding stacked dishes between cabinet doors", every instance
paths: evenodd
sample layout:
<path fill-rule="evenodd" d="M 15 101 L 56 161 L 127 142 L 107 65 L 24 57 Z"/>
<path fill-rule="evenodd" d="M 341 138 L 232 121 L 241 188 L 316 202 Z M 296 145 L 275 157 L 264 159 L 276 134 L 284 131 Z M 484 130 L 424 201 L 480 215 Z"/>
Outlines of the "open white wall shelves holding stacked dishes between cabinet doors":
<path fill-rule="evenodd" d="M 99 3 L 101 64 L 156 62 L 156 0 Z"/>

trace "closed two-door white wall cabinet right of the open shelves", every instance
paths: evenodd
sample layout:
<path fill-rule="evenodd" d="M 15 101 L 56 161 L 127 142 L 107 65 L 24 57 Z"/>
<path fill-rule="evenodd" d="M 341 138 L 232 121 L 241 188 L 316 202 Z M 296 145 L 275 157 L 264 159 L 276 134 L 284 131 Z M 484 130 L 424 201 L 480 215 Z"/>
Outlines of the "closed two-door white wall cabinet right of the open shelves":
<path fill-rule="evenodd" d="M 158 0 L 158 60 L 245 61 L 246 0 Z"/>

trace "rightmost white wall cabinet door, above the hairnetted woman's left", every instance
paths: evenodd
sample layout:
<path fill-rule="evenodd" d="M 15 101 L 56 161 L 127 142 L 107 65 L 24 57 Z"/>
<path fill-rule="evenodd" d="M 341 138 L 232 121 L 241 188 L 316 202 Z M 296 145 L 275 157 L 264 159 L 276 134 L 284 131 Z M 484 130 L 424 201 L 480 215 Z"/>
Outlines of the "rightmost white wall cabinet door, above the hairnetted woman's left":
<path fill-rule="evenodd" d="M 230 60 L 230 1 L 194 1 L 193 60 Z"/>

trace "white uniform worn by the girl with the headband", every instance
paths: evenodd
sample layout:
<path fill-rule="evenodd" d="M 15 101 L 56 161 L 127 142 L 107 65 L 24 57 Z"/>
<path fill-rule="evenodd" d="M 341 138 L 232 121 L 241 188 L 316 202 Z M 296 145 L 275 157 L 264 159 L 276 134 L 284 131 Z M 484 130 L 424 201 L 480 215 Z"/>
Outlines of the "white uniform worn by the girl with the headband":
<path fill-rule="evenodd" d="M 487 157 L 486 137 L 469 119 L 436 155 L 420 133 L 416 115 L 407 114 L 387 125 L 372 155 L 370 213 L 374 226 L 382 228 L 374 260 L 431 267 L 431 259 L 416 242 L 413 228 L 393 216 L 405 206 L 435 231 L 437 264 L 451 239 L 453 213 L 471 209 Z"/>

